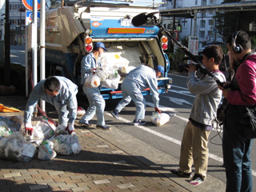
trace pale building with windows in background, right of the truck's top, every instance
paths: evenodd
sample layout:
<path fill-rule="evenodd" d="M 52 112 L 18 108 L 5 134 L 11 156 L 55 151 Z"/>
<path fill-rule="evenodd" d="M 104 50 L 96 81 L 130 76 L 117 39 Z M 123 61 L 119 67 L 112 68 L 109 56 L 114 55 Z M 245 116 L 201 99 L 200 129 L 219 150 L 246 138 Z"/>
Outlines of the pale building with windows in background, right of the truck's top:
<path fill-rule="evenodd" d="M 170 0 L 165 5 L 160 6 L 159 10 L 175 9 L 191 6 L 212 6 L 221 4 L 223 0 Z M 222 37 L 220 37 L 214 27 L 214 12 L 198 13 L 196 21 L 194 18 L 162 18 L 162 25 L 168 29 L 173 30 L 174 25 L 180 24 L 182 32 L 179 37 L 198 36 L 199 49 L 206 44 L 220 44 Z M 195 26 L 194 26 L 195 24 Z"/>

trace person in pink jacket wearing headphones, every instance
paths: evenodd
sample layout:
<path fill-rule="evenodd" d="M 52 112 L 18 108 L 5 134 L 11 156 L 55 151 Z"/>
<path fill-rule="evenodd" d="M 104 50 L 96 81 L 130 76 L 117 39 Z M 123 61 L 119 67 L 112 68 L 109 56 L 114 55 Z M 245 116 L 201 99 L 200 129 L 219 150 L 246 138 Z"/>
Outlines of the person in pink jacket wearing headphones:
<path fill-rule="evenodd" d="M 256 54 L 251 52 L 249 35 L 239 30 L 231 34 L 226 46 L 232 58 L 238 63 L 238 69 L 230 83 L 225 82 L 223 96 L 229 102 L 226 107 L 223 126 L 223 159 L 226 169 L 226 191 L 252 191 L 252 173 L 250 169 L 250 150 L 252 139 L 246 138 L 240 113 L 244 106 L 256 104 Z"/>

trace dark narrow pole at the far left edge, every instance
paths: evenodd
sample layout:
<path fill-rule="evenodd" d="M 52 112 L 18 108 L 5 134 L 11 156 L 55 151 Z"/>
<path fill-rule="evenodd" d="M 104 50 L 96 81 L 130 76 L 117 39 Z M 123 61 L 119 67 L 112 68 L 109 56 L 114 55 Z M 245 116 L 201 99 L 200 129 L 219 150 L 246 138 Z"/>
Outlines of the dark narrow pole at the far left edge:
<path fill-rule="evenodd" d="M 10 86 L 10 22 L 9 22 L 9 0 L 6 0 L 6 23 L 5 23 L 5 86 Z"/>

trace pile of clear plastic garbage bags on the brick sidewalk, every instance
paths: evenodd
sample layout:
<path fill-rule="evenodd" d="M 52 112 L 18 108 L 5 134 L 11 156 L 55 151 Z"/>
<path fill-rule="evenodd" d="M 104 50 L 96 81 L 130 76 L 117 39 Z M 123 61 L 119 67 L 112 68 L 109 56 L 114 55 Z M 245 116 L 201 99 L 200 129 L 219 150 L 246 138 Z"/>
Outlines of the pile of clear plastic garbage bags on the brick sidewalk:
<path fill-rule="evenodd" d="M 68 134 L 66 127 L 55 126 L 46 118 L 33 118 L 32 135 L 23 126 L 10 127 L 10 118 L 0 118 L 0 158 L 29 162 L 32 158 L 50 160 L 57 154 L 78 154 L 81 145 L 78 135 Z"/>

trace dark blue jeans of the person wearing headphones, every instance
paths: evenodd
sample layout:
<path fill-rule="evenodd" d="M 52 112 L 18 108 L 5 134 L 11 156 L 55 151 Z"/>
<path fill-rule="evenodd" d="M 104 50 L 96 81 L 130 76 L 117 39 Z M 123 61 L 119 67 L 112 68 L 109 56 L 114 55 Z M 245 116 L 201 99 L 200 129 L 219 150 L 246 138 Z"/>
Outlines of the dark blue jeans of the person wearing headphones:
<path fill-rule="evenodd" d="M 226 169 L 226 192 L 252 192 L 250 151 L 253 139 L 245 138 L 239 114 L 231 106 L 223 128 L 223 159 Z"/>

